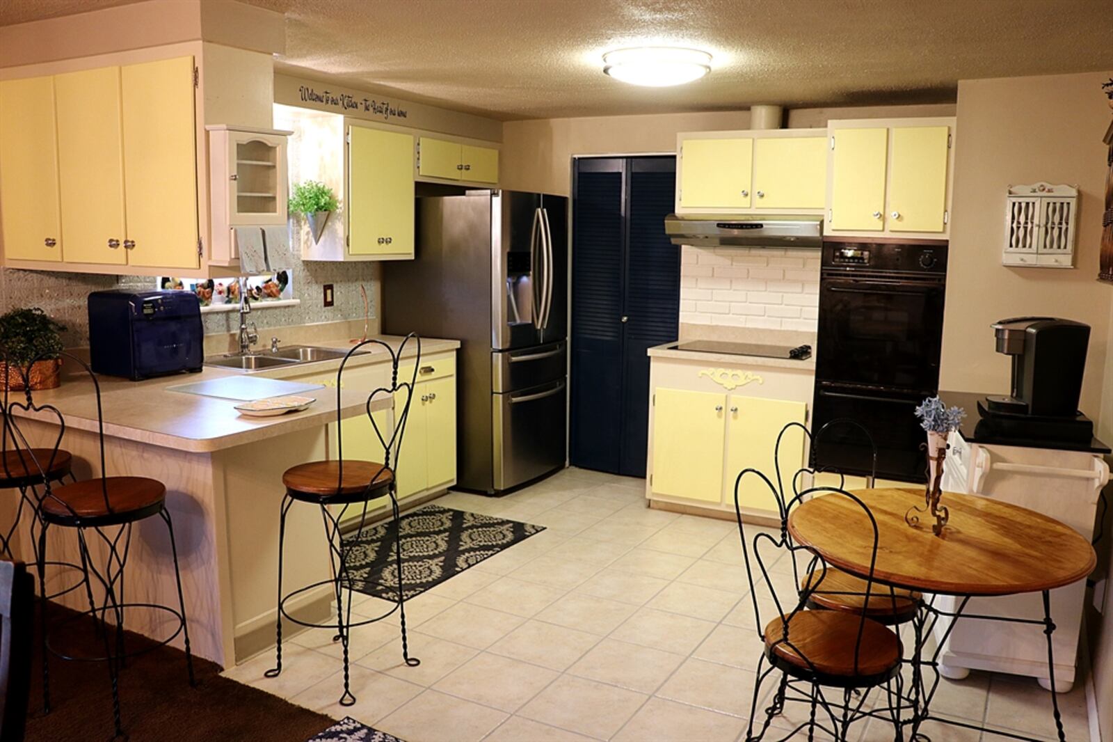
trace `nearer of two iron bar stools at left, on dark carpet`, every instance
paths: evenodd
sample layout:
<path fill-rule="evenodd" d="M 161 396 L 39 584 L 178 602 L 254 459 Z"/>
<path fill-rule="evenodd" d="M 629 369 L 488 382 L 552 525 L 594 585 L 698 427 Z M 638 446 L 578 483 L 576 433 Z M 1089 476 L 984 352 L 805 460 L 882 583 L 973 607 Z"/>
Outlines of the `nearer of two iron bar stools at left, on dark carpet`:
<path fill-rule="evenodd" d="M 178 549 L 174 538 L 174 524 L 170 512 L 166 509 L 166 487 L 162 482 L 146 477 L 109 477 L 105 466 L 105 418 L 100 398 L 100 382 L 92 369 L 82 361 L 69 353 L 62 355 L 81 367 L 92 381 L 93 392 L 97 399 L 97 435 L 100 453 L 101 476 L 95 479 L 73 481 L 72 484 L 60 484 L 56 486 L 56 480 L 43 477 L 43 496 L 39 500 L 38 516 L 41 528 L 38 536 L 38 575 L 39 593 L 46 594 L 46 565 L 47 562 L 47 534 L 51 527 L 72 528 L 77 533 L 78 553 L 80 555 L 82 579 L 78 586 L 83 586 L 89 608 L 72 617 L 60 622 L 55 628 L 60 629 L 82 617 L 88 617 L 96 623 L 96 633 L 99 634 L 104 643 L 105 654 L 101 656 L 77 656 L 68 655 L 56 650 L 50 642 L 47 625 L 46 603 L 39 614 L 40 632 L 43 636 L 43 696 L 49 711 L 50 697 L 50 675 L 47 654 L 53 654 L 62 660 L 75 660 L 86 662 L 105 662 L 108 665 L 109 680 L 112 692 L 112 722 L 115 724 L 116 739 L 127 739 L 120 715 L 119 674 L 126 658 L 149 652 L 157 646 L 162 646 L 173 642 L 179 634 L 186 651 L 186 668 L 189 675 L 189 684 L 196 684 L 194 677 L 193 654 L 189 648 L 189 629 L 186 622 L 186 602 L 181 589 L 181 573 L 178 567 Z M 20 418 L 17 414 L 22 411 L 33 414 L 37 420 L 49 420 L 58 428 L 58 436 L 49 449 L 36 449 L 29 445 L 28 437 L 20 429 Z M 58 460 L 62 438 L 66 435 L 66 420 L 61 411 L 52 404 L 38 404 L 35 402 L 30 390 L 27 391 L 27 400 L 23 402 L 8 402 L 8 426 L 12 432 L 12 439 L 17 447 L 21 448 L 24 460 L 31 460 L 40 472 L 53 470 Z M 41 453 L 35 451 L 46 451 L 43 459 Z M 129 547 L 131 543 L 132 526 L 147 518 L 158 516 L 166 524 L 167 534 L 170 540 L 170 554 L 174 559 L 174 576 L 178 592 L 178 607 L 159 605 L 155 603 L 140 603 L 124 601 L 124 574 L 127 567 Z M 112 533 L 115 529 L 115 533 Z M 107 557 L 102 564 L 98 565 L 93 547 L 107 550 Z M 99 592 L 100 598 L 95 596 Z M 171 624 L 175 628 L 166 638 L 140 650 L 126 651 L 124 642 L 125 613 L 128 609 L 149 609 L 169 614 L 174 618 Z M 61 632 L 59 632 L 61 633 Z M 114 640 L 109 638 L 115 634 Z"/>

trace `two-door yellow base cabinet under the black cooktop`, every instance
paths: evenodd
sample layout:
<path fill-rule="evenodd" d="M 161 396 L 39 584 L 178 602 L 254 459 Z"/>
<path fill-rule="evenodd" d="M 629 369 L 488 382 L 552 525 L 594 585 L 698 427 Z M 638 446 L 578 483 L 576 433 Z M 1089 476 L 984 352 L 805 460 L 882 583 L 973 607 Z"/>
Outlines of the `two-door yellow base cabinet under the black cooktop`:
<path fill-rule="evenodd" d="M 810 369 L 652 355 L 647 498 L 666 509 L 732 514 L 742 469 L 776 480 L 777 437 L 789 422 L 807 423 L 814 381 Z M 802 432 L 790 431 L 780 450 L 786 487 L 805 457 Z M 752 518 L 777 517 L 777 502 L 757 477 L 743 480 L 739 504 Z"/>

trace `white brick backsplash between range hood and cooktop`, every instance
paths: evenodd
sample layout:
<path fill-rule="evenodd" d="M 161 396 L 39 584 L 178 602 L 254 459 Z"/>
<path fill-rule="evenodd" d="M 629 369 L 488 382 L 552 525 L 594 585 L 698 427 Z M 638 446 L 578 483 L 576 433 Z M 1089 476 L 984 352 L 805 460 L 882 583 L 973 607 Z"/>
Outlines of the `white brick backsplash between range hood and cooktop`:
<path fill-rule="evenodd" d="M 680 258 L 680 322 L 816 331 L 819 253 L 692 247 Z"/>

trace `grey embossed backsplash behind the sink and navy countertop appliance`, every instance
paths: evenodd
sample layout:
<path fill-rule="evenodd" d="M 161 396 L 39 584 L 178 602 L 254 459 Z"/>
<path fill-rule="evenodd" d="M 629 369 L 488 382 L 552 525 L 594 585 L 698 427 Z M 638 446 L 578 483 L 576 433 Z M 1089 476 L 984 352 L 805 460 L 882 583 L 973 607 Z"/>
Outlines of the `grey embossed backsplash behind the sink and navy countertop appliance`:
<path fill-rule="evenodd" d="M 301 230 L 294 230 L 292 250 L 301 253 Z M 377 323 L 378 266 L 374 263 L 302 262 L 295 257 L 290 269 L 294 297 L 297 306 L 275 306 L 252 312 L 252 321 L 259 330 L 259 340 L 269 342 L 264 331 L 295 324 L 315 324 L 363 318 L 363 296 L 359 284 L 367 290 L 372 326 Z M 333 284 L 334 305 L 324 306 L 323 285 Z M 67 326 L 63 341 L 68 348 L 89 344 L 89 322 L 86 296 L 93 291 L 108 289 L 155 289 L 157 279 L 136 275 L 100 275 L 92 273 L 61 273 L 45 271 L 17 271 L 0 269 L 0 313 L 17 306 L 41 306 L 47 314 Z M 235 312 L 204 315 L 207 334 L 232 332 L 239 326 Z"/>

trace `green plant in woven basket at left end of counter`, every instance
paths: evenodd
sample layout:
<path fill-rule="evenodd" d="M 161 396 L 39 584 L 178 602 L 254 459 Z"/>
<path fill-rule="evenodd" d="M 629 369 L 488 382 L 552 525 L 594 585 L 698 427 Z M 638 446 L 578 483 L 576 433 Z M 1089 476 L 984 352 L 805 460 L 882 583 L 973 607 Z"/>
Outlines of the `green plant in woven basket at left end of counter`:
<path fill-rule="evenodd" d="M 0 315 L 0 378 L 10 390 L 53 389 L 60 383 L 66 328 L 38 306 Z"/>

